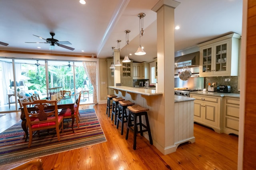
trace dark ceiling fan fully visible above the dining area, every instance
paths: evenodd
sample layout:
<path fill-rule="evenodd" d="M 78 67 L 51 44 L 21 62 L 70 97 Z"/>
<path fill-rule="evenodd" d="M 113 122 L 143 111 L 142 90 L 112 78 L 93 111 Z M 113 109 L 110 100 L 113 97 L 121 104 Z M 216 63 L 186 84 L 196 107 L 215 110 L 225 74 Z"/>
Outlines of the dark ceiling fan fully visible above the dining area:
<path fill-rule="evenodd" d="M 63 44 L 71 44 L 70 42 L 68 42 L 68 41 L 58 41 L 58 39 L 54 39 L 53 37 L 54 37 L 55 33 L 50 33 L 50 35 L 52 36 L 52 38 L 47 38 L 47 39 L 44 39 L 44 38 L 39 37 L 37 35 L 34 35 L 34 36 L 36 36 L 40 39 L 44 39 L 46 42 L 25 42 L 25 43 L 49 43 L 50 44 L 50 49 L 53 49 L 52 47 L 54 47 L 54 45 L 56 44 L 56 45 L 58 45 L 60 47 L 63 47 L 65 49 L 69 49 L 69 50 L 72 50 L 72 51 L 74 50 L 74 48 L 72 48 L 72 47 L 68 47 L 66 45 L 63 45 Z"/>

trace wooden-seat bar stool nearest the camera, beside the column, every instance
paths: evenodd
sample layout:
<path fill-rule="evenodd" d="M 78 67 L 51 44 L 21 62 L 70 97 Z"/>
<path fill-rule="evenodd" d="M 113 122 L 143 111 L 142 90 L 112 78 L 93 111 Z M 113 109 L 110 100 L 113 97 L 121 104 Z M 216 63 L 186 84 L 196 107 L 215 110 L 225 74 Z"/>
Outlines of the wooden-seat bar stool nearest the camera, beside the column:
<path fill-rule="evenodd" d="M 143 136 L 143 132 L 148 131 L 148 137 L 149 137 L 149 143 L 153 145 L 152 141 L 152 136 L 151 136 L 151 131 L 150 131 L 150 126 L 148 122 L 148 113 L 147 111 L 149 109 L 146 109 L 144 107 L 141 107 L 139 105 L 134 105 L 134 106 L 128 106 L 127 107 L 129 110 L 129 115 L 128 115 L 128 125 L 127 125 L 127 133 L 125 139 L 128 139 L 128 134 L 129 134 L 129 129 L 134 133 L 134 139 L 133 139 L 133 149 L 136 150 L 136 135 L 137 133 L 140 133 L 141 136 Z M 141 121 L 141 116 L 144 115 L 146 119 L 146 125 L 144 125 Z M 133 117 L 133 120 L 132 120 Z M 137 123 L 137 117 L 139 117 L 139 123 Z M 132 124 L 132 121 L 134 121 L 134 124 Z M 140 125 L 140 130 L 138 131 L 138 125 Z M 142 130 L 142 127 L 145 129 Z"/>

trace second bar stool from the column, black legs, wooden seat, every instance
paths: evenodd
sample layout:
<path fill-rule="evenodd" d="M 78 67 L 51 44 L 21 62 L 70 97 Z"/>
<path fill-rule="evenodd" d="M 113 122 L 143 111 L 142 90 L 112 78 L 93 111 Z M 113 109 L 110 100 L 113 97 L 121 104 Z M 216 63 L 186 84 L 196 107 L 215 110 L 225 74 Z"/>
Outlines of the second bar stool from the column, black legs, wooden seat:
<path fill-rule="evenodd" d="M 130 102 L 130 100 L 123 100 L 118 102 L 118 115 L 117 115 L 117 124 L 116 124 L 116 129 L 118 129 L 119 121 L 122 123 L 121 126 L 121 135 L 124 133 L 124 123 L 127 122 L 128 114 L 126 113 L 126 108 L 128 106 L 132 106 L 134 103 Z M 121 113 L 122 112 L 122 113 Z M 124 120 L 124 118 L 126 120 Z"/>

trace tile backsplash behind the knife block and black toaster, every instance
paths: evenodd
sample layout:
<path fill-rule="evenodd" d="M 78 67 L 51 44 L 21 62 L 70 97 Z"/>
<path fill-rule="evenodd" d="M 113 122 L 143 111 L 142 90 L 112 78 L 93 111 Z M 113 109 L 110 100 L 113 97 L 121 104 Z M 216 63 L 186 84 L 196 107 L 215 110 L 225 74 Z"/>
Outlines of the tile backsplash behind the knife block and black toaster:
<path fill-rule="evenodd" d="M 230 82 L 225 82 L 225 78 L 230 78 Z M 231 87 L 231 93 L 240 93 L 238 91 L 238 76 L 220 76 L 220 77 L 206 77 L 205 88 L 208 88 L 208 83 L 216 82 L 218 85 L 227 85 Z"/>

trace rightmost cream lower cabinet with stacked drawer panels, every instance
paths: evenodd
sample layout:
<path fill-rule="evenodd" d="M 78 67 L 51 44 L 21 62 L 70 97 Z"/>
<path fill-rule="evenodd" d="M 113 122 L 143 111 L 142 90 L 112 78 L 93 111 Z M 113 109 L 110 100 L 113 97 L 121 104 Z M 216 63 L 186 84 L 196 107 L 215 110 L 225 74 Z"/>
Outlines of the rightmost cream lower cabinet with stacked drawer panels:
<path fill-rule="evenodd" d="M 224 133 L 238 135 L 240 99 L 225 97 L 224 101 Z"/>

